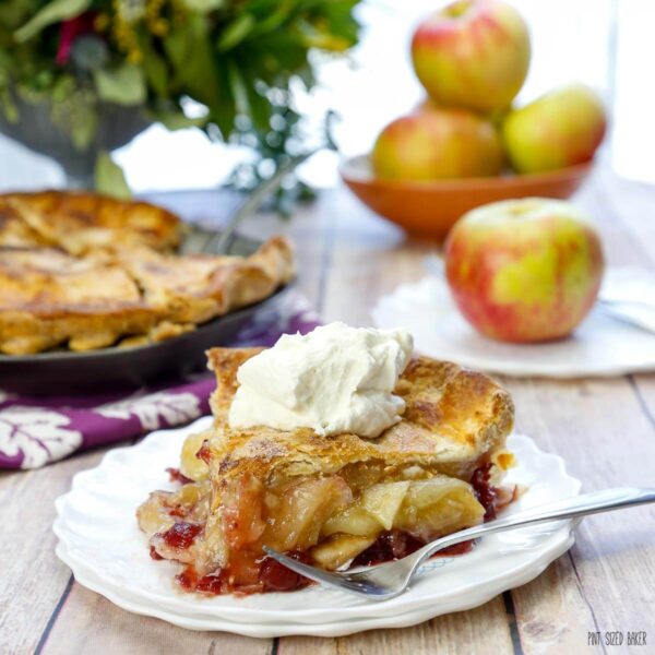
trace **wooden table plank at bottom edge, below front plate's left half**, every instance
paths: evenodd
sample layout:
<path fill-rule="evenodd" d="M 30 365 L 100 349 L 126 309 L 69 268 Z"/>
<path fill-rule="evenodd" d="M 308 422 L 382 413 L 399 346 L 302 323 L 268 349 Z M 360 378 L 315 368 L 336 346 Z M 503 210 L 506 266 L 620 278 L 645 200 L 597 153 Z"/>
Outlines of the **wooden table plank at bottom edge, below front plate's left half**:
<path fill-rule="evenodd" d="M 79 584 L 62 607 L 44 655 L 264 655 L 273 640 L 250 639 L 227 632 L 195 632 L 165 621 L 123 611 Z"/>

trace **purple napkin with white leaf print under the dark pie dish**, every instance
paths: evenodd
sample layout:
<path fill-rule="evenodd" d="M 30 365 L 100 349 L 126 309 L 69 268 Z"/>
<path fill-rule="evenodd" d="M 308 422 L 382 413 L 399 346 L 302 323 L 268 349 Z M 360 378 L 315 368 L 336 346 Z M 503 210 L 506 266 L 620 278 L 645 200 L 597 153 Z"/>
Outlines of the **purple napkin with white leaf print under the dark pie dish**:
<path fill-rule="evenodd" d="M 269 346 L 283 333 L 306 333 L 318 324 L 307 300 L 290 291 L 224 345 Z M 0 468 L 38 468 L 76 451 L 190 422 L 209 413 L 214 386 L 207 372 L 127 396 L 31 398 L 0 390 Z"/>

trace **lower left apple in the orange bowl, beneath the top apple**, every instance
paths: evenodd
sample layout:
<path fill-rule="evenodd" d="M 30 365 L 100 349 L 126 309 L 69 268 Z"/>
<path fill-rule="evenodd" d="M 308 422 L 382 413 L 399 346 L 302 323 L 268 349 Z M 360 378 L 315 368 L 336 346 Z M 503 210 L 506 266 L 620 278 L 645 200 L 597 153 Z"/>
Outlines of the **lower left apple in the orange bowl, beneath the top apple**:
<path fill-rule="evenodd" d="M 436 180 L 498 175 L 503 158 L 489 121 L 465 109 L 422 105 L 382 130 L 371 166 L 381 178 Z"/>

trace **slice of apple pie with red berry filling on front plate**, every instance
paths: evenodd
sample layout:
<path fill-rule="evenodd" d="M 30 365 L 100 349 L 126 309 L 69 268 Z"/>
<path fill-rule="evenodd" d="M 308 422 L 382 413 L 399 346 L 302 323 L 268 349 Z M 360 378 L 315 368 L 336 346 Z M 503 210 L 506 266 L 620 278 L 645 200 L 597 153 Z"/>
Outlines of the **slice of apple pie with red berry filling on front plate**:
<path fill-rule="evenodd" d="M 495 516 L 512 498 L 510 395 L 454 364 L 413 358 L 394 393 L 398 422 L 377 439 L 265 426 L 229 427 L 239 367 L 259 349 L 215 348 L 214 425 L 189 437 L 174 491 L 139 508 L 151 556 L 182 564 L 177 583 L 205 594 L 308 584 L 262 547 L 335 570 L 407 555 Z"/>

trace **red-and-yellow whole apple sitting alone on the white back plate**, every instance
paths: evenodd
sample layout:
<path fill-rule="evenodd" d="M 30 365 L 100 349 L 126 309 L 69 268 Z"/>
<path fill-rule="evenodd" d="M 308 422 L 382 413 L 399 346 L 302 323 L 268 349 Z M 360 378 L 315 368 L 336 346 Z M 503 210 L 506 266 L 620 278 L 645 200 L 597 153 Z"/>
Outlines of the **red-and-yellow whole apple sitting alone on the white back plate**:
<path fill-rule="evenodd" d="M 527 198 L 465 214 L 445 243 L 445 272 L 464 317 L 505 342 L 569 334 L 592 309 L 603 276 L 600 238 L 568 202 Z"/>

